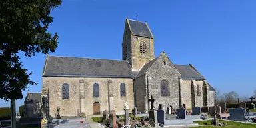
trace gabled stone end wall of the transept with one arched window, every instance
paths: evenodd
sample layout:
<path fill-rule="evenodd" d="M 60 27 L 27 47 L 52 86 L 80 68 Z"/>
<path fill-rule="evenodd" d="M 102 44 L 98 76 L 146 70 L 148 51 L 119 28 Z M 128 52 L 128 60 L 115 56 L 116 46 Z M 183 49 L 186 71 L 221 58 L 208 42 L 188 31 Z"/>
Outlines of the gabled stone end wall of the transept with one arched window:
<path fill-rule="evenodd" d="M 167 105 L 172 105 L 175 109 L 179 108 L 179 77 L 180 73 L 165 53 L 161 53 L 157 60 L 147 71 L 149 98 L 155 98 L 155 108 L 159 104 L 166 109 Z M 161 81 L 167 81 L 167 96 L 161 96 Z"/>

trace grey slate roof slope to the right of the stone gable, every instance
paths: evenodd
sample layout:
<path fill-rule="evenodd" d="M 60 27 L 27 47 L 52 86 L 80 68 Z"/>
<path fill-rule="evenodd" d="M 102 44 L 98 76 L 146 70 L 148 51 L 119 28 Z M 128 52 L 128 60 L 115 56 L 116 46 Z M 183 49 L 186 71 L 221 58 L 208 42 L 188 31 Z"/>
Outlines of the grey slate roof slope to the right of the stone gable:
<path fill-rule="evenodd" d="M 182 79 L 205 79 L 191 65 L 175 65 L 175 67 L 181 73 Z"/>

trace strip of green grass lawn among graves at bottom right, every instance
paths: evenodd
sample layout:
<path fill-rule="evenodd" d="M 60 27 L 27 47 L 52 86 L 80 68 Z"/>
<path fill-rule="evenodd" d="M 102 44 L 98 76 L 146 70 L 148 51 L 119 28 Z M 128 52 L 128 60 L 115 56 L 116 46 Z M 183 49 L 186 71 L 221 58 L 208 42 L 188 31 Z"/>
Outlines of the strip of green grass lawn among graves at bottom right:
<path fill-rule="evenodd" d="M 195 123 L 199 123 L 199 125 L 204 125 L 204 126 L 199 126 L 199 127 L 216 127 L 216 126 L 211 126 L 211 120 L 209 121 L 194 121 Z M 256 124 L 249 124 L 249 123 L 239 123 L 239 122 L 233 122 L 233 121 L 223 121 L 219 120 L 219 123 L 221 122 L 226 122 L 228 128 L 256 128 Z M 199 128 L 199 127 L 193 127 L 193 128 Z"/>

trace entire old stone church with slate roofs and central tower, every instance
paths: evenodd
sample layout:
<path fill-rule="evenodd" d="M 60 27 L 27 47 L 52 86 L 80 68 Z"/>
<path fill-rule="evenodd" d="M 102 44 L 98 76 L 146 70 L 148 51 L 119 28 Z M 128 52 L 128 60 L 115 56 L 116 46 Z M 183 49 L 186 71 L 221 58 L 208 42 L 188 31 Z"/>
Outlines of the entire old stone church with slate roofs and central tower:
<path fill-rule="evenodd" d="M 125 102 L 147 113 L 151 95 L 164 108 L 215 105 L 215 89 L 193 65 L 175 65 L 165 52 L 155 57 L 154 45 L 147 23 L 126 19 L 123 60 L 47 55 L 41 97 L 48 99 L 48 115 L 119 113 Z"/>

